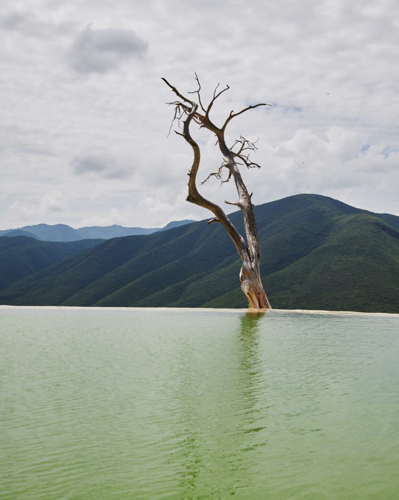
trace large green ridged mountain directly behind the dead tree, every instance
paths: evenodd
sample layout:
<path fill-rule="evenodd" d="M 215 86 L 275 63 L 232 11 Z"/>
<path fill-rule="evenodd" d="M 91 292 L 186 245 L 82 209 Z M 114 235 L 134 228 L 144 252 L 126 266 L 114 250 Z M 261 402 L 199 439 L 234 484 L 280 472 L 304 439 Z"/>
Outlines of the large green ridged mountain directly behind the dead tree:
<path fill-rule="evenodd" d="M 316 194 L 255 207 L 275 308 L 399 312 L 399 217 Z M 240 212 L 230 215 L 242 231 Z M 0 292 L 0 303 L 246 307 L 240 261 L 206 221 L 114 238 Z"/>

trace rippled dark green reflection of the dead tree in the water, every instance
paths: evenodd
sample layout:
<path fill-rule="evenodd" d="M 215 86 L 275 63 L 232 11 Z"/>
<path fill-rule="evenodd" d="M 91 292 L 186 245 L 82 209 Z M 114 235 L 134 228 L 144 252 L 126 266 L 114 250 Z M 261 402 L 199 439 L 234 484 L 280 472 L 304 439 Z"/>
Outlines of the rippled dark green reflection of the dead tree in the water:
<path fill-rule="evenodd" d="M 204 487 L 214 497 L 248 487 L 245 453 L 258 445 L 257 431 L 263 428 L 258 423 L 263 381 L 259 336 L 265 314 L 241 315 L 235 331 L 222 336 L 220 352 L 209 352 L 206 376 L 213 383 L 209 378 L 194 382 L 192 373 L 182 380 L 179 476 L 185 498 L 197 498 Z"/>

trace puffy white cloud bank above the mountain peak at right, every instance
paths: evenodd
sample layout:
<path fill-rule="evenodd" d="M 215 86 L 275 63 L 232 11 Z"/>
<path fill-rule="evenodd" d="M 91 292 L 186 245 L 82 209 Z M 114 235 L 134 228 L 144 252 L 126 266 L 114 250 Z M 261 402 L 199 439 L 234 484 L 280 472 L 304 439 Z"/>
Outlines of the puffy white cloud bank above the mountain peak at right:
<path fill-rule="evenodd" d="M 331 127 L 324 135 L 300 129 L 276 146 L 267 144 L 263 164 L 272 164 L 277 175 L 254 186 L 257 200 L 259 193 L 260 199 L 275 199 L 313 192 L 374 211 L 386 211 L 387 202 L 394 206 L 398 201 L 399 152 L 384 154 L 384 144 L 364 148 L 365 136 L 343 127 Z M 248 176 L 249 185 L 252 182 Z"/>

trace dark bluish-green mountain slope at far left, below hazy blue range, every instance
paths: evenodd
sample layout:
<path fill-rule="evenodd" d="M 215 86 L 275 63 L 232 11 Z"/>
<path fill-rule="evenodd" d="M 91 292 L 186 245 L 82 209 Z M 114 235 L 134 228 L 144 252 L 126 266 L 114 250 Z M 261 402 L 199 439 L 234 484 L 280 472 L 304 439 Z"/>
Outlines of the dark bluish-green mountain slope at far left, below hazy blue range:
<path fill-rule="evenodd" d="M 82 239 L 71 242 L 49 242 L 23 235 L 1 236 L 0 290 L 102 241 L 102 239 Z"/>

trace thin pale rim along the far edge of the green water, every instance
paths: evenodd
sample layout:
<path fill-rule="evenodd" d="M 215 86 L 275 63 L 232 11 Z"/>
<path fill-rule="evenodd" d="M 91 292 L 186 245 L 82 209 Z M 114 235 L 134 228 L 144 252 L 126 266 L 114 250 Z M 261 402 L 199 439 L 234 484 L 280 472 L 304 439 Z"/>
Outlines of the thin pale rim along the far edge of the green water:
<path fill-rule="evenodd" d="M 75 310 L 127 310 L 127 311 L 186 311 L 186 312 L 265 312 L 265 313 L 301 313 L 301 314 L 337 314 L 348 316 L 389 316 L 399 317 L 396 312 L 361 312 L 361 311 L 330 311 L 319 309 L 223 309 L 214 307 L 94 307 L 94 306 L 78 306 L 78 305 L 6 305 L 0 304 L 1 309 L 75 309 Z"/>

